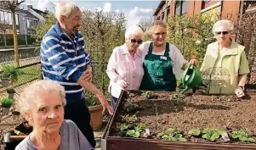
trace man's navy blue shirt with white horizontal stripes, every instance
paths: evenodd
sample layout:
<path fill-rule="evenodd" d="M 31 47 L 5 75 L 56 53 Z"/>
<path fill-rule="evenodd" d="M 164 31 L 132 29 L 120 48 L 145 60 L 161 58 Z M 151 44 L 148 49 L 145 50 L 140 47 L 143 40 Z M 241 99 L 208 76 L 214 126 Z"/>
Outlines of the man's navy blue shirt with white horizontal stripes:
<path fill-rule="evenodd" d="M 84 97 L 83 87 L 77 81 L 86 70 L 86 65 L 92 63 L 84 45 L 80 31 L 71 39 L 60 29 L 58 22 L 43 36 L 41 42 L 43 78 L 64 86 L 67 102 L 81 101 Z"/>

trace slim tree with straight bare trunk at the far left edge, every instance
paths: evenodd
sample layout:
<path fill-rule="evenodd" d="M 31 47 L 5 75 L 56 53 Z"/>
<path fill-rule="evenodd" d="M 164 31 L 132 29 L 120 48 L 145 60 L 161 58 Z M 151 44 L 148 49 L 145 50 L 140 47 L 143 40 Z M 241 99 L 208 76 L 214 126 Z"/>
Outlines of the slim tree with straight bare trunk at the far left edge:
<path fill-rule="evenodd" d="M 2 8 L 9 9 L 12 13 L 13 21 L 13 31 L 14 31 L 14 62 L 19 66 L 19 51 L 18 51 L 18 39 L 17 39 L 17 29 L 16 29 L 16 19 L 15 19 L 15 10 L 25 0 L 1 0 L 0 5 Z"/>

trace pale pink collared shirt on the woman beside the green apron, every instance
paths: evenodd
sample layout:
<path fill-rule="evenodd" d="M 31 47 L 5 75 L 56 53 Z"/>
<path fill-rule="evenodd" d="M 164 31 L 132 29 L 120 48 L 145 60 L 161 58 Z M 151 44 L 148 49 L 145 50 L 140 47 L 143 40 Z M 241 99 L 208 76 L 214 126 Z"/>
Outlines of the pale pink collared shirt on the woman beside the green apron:
<path fill-rule="evenodd" d="M 115 47 L 109 59 L 106 73 L 111 79 L 111 94 L 118 95 L 113 92 L 117 92 L 115 88 L 121 88 L 121 80 L 128 83 L 126 90 L 139 90 L 144 75 L 139 49 L 134 53 L 133 58 L 128 52 L 126 44 L 121 47 Z"/>

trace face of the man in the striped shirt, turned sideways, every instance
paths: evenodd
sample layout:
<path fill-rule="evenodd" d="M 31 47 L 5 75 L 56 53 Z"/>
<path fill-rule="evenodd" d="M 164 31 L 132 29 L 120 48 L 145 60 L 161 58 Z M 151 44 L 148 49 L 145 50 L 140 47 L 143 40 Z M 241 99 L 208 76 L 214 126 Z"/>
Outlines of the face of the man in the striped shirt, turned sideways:
<path fill-rule="evenodd" d="M 82 25 L 82 13 L 79 10 L 74 10 L 69 17 L 61 15 L 60 21 L 65 25 L 65 32 L 67 34 L 75 34 Z"/>

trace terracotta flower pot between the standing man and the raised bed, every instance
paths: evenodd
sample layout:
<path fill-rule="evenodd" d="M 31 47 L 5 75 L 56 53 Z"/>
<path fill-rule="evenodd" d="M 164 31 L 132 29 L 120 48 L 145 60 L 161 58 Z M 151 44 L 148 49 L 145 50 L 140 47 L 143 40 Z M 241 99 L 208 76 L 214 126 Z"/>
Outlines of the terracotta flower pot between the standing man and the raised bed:
<path fill-rule="evenodd" d="M 102 105 L 97 105 L 97 106 L 90 106 L 88 107 L 90 116 L 91 116 L 91 122 L 90 124 L 92 125 L 92 128 L 94 131 L 97 131 L 101 128 L 102 125 L 102 119 L 103 119 L 103 108 Z"/>

